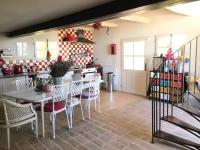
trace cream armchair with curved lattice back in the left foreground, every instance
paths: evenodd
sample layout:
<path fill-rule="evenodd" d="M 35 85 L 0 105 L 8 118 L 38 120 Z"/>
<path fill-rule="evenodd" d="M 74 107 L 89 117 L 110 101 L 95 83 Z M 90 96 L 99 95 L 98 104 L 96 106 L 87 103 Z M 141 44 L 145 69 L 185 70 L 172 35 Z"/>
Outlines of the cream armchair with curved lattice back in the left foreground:
<path fill-rule="evenodd" d="M 10 128 L 29 122 L 35 122 L 35 134 L 38 137 L 37 113 L 32 104 L 18 104 L 6 99 L 0 99 L 0 128 L 7 129 L 7 146 L 10 149 Z"/>

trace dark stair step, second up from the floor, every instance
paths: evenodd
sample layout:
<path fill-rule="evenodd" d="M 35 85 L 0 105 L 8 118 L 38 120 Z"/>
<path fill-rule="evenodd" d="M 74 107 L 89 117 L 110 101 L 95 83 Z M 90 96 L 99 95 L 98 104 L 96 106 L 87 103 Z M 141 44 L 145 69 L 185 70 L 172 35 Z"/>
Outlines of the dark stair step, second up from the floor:
<path fill-rule="evenodd" d="M 186 123 L 186 122 L 184 122 L 184 121 L 182 121 L 182 120 L 180 120 L 180 119 L 178 119 L 174 116 L 165 116 L 165 117 L 162 118 L 162 120 L 170 122 L 170 123 L 177 125 L 177 126 L 183 128 L 183 129 L 189 129 L 191 131 L 195 131 L 195 132 L 200 134 L 199 128 L 192 126 L 189 123 Z"/>

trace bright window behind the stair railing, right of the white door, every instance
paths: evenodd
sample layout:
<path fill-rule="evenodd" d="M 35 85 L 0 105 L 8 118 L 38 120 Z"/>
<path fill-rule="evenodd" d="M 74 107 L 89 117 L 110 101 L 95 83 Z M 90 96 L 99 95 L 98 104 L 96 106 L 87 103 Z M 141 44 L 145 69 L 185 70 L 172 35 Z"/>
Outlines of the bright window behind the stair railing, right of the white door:
<path fill-rule="evenodd" d="M 186 35 L 164 35 L 156 38 L 156 53 L 157 56 L 167 54 L 167 51 L 172 48 L 172 51 L 178 50 L 186 40 Z"/>

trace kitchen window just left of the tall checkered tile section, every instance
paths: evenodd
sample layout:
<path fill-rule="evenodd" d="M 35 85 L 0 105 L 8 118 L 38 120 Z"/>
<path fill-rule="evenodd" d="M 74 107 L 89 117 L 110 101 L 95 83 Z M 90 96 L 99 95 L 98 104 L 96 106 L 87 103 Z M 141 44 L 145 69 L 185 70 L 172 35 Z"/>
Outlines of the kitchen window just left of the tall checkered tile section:
<path fill-rule="evenodd" d="M 58 56 L 58 45 L 55 41 L 36 41 L 35 55 L 37 59 L 46 59 L 47 50 L 51 53 L 51 58 L 55 59 Z"/>

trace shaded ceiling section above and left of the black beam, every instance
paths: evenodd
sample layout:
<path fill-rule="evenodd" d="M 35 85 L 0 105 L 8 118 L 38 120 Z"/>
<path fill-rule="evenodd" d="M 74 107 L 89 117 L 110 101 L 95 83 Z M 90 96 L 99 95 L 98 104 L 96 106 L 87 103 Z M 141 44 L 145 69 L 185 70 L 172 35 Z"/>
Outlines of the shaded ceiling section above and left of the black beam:
<path fill-rule="evenodd" d="M 79 12 L 112 0 L 0 0 L 0 32 Z"/>

